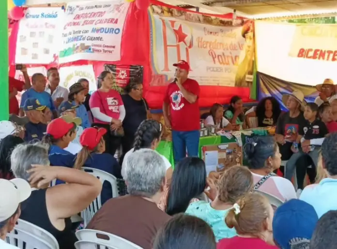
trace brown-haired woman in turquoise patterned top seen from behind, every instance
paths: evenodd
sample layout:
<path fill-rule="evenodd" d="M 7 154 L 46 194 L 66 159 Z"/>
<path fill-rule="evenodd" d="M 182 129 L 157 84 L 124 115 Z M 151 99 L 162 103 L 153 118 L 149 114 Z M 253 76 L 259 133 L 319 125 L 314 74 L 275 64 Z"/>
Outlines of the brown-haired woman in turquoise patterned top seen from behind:
<path fill-rule="evenodd" d="M 248 168 L 233 166 L 227 169 L 220 178 L 217 194 L 213 202 L 193 202 L 186 214 L 206 221 L 212 228 L 216 241 L 236 236 L 235 229 L 230 229 L 225 218 L 233 204 L 253 187 L 253 176 Z"/>

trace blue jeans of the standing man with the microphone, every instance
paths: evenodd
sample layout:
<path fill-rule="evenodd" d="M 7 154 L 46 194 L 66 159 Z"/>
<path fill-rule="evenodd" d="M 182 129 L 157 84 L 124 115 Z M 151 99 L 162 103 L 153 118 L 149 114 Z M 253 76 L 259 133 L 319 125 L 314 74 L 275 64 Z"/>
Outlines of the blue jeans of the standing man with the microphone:
<path fill-rule="evenodd" d="M 178 163 L 186 156 L 198 157 L 199 151 L 199 130 L 193 131 L 175 131 L 172 130 L 172 144 L 174 163 Z"/>

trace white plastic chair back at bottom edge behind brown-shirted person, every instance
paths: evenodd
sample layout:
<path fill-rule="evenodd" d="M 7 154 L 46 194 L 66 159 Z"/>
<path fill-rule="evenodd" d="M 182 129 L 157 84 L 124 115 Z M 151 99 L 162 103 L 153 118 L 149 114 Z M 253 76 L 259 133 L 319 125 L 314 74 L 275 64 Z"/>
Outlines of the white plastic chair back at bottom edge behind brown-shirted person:
<path fill-rule="evenodd" d="M 97 235 L 103 235 L 103 237 L 107 237 L 108 239 L 98 238 Z M 117 235 L 111 233 L 105 233 L 97 230 L 92 229 L 83 229 L 78 230 L 76 232 L 77 239 L 79 241 L 89 241 L 98 244 L 107 245 L 111 248 L 115 249 L 142 249 L 141 247 L 137 246 L 136 244 L 123 239 Z M 81 248 L 82 249 L 82 248 Z M 87 248 L 89 249 L 89 248 Z M 90 249 L 94 249 L 91 247 Z"/>

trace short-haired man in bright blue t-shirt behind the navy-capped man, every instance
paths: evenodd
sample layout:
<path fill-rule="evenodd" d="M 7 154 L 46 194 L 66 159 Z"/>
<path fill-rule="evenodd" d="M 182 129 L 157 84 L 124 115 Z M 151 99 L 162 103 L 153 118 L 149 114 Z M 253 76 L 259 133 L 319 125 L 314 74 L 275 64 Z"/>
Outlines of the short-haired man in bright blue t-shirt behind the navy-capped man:
<path fill-rule="evenodd" d="M 54 106 L 54 101 L 50 94 L 45 92 L 46 89 L 46 77 L 43 74 L 37 73 L 31 77 L 32 86 L 26 92 L 21 95 L 20 113 L 19 115 L 24 116 L 24 105 L 27 99 L 35 98 L 39 100 L 40 105 L 48 107 L 57 118 L 57 111 Z"/>

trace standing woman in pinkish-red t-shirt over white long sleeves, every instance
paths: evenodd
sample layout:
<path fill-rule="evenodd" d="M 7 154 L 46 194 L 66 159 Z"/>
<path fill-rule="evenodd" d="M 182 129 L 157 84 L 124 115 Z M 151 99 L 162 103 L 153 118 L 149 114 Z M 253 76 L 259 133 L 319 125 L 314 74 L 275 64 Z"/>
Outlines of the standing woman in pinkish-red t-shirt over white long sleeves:
<path fill-rule="evenodd" d="M 115 155 L 121 146 L 122 137 L 119 134 L 125 117 L 125 109 L 121 95 L 111 89 L 114 85 L 113 75 L 109 71 L 103 71 L 97 82 L 98 90 L 92 93 L 89 106 L 92 111 L 92 126 L 106 128 L 104 135 L 106 141 L 106 153 Z"/>

